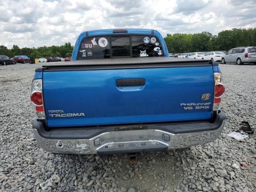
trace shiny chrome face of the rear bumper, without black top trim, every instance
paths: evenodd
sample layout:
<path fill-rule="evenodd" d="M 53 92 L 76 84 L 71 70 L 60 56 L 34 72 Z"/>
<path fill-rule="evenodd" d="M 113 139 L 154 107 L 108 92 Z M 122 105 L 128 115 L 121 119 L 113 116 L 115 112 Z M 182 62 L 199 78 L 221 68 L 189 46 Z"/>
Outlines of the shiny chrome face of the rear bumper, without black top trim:
<path fill-rule="evenodd" d="M 104 132 L 89 139 L 43 138 L 33 128 L 38 145 L 60 154 L 114 154 L 144 151 L 163 151 L 202 145 L 218 138 L 225 120 L 215 130 L 173 134 L 158 129 Z"/>

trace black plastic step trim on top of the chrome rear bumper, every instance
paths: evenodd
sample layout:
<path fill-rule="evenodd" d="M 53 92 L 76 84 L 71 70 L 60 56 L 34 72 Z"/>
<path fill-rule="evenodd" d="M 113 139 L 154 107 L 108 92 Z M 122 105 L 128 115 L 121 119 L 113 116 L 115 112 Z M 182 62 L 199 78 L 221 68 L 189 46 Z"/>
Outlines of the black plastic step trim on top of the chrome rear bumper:
<path fill-rule="evenodd" d="M 157 129 L 173 134 L 211 131 L 220 128 L 225 119 L 226 115 L 223 111 L 220 111 L 213 123 L 208 121 L 165 122 L 80 128 L 52 128 L 52 130 L 46 131 L 42 122 L 36 120 L 34 121 L 32 128 L 36 129 L 38 134 L 46 139 L 90 139 L 104 132 L 122 130 Z"/>

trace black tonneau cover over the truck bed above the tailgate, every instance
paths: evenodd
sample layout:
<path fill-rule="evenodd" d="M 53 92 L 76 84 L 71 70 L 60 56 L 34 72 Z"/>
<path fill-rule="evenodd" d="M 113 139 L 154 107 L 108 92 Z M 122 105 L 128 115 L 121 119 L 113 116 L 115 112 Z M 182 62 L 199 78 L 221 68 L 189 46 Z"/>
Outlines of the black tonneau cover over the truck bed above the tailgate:
<path fill-rule="evenodd" d="M 210 60 L 198 60 L 175 57 L 148 57 L 148 58 L 116 58 L 116 59 L 92 59 L 76 60 L 68 64 L 47 64 L 42 68 L 36 68 L 36 72 L 47 71 L 71 71 L 71 70 L 107 70 L 129 68 L 165 68 L 188 66 L 212 66 L 217 62 Z"/>

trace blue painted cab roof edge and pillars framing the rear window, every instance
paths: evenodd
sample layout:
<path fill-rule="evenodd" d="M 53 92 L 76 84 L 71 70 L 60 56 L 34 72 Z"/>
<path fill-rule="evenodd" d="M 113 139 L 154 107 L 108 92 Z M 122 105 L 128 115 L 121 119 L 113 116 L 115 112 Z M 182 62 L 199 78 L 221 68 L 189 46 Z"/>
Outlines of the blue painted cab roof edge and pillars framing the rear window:
<path fill-rule="evenodd" d="M 102 30 L 88 31 L 88 36 L 109 35 L 109 34 L 113 34 L 113 36 L 114 36 L 115 34 L 118 34 L 118 33 L 113 33 L 113 30 L 114 29 L 102 29 Z M 124 35 L 129 35 L 129 34 L 151 35 L 152 34 L 151 29 L 126 29 L 126 30 L 127 30 L 127 33 L 121 33 L 121 34 L 124 34 Z M 168 49 L 166 47 L 166 44 L 164 42 L 162 35 L 157 30 L 154 30 L 154 35 L 158 37 L 160 44 L 162 45 L 162 50 L 163 50 L 164 56 L 169 57 Z M 80 42 L 82 41 L 82 39 L 84 37 L 86 37 L 86 32 L 82 32 L 78 36 L 75 46 L 74 46 L 74 49 L 73 49 L 73 52 L 72 52 L 72 58 L 71 58 L 72 61 L 77 60 L 76 58 L 77 58 Z"/>

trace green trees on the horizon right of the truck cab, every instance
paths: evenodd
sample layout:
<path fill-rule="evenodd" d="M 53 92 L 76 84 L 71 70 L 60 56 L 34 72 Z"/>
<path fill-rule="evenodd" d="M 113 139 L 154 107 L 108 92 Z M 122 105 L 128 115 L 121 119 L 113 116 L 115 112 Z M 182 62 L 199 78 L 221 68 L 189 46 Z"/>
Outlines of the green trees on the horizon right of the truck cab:
<path fill-rule="evenodd" d="M 224 30 L 218 35 L 210 32 L 167 34 L 164 38 L 170 53 L 228 51 L 238 46 L 256 46 L 256 28 Z"/>

